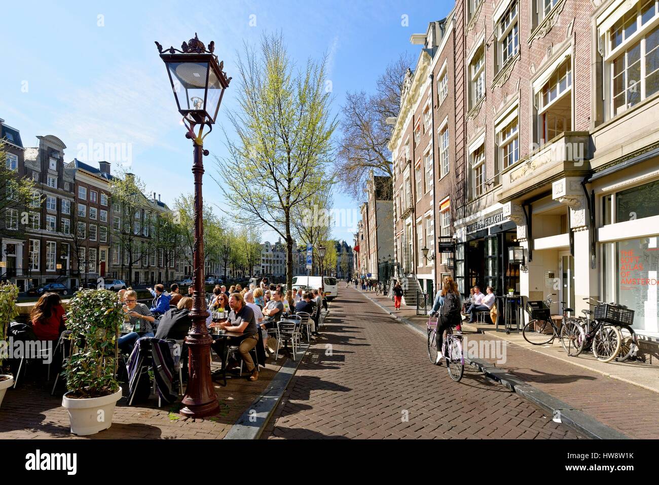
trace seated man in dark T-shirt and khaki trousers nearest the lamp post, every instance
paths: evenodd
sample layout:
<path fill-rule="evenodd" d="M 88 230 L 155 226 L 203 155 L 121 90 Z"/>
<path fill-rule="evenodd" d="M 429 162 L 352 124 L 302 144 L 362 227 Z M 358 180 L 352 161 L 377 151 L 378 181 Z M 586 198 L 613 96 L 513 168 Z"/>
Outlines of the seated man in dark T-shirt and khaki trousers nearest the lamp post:
<path fill-rule="evenodd" d="M 258 379 L 258 368 L 254 365 L 252 356 L 249 355 L 249 352 L 258 343 L 258 328 L 254 319 L 254 311 L 244 303 L 243 295 L 240 293 L 231 293 L 229 306 L 231 307 L 229 318 L 225 323 L 217 324 L 217 326 L 226 331 L 244 332 L 244 335 L 230 337 L 228 344 L 227 339 L 219 339 L 212 344 L 213 349 L 217 355 L 222 356 L 225 345 L 237 345 L 247 371 L 250 373 L 249 380 L 253 382 Z"/>

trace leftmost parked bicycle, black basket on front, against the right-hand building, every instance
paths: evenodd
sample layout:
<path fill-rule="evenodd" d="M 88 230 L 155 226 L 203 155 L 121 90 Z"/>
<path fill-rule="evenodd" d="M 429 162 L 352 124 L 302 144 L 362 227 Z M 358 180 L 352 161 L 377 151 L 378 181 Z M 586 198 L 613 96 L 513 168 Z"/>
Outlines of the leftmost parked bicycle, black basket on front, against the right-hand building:
<path fill-rule="evenodd" d="M 538 302 L 529 302 L 530 306 L 527 307 L 531 320 L 522 329 L 524 339 L 532 345 L 546 345 L 558 338 L 561 347 L 567 355 L 577 355 L 579 346 L 584 339 L 584 330 L 577 318 L 568 315 L 573 312 L 572 308 L 563 307 L 563 320 L 561 320 L 560 328 L 552 319 L 550 308 L 554 300 L 552 297 L 556 293 L 548 295 L 544 300 L 544 306 L 539 306 Z M 561 304 L 565 302 L 561 301 Z"/>

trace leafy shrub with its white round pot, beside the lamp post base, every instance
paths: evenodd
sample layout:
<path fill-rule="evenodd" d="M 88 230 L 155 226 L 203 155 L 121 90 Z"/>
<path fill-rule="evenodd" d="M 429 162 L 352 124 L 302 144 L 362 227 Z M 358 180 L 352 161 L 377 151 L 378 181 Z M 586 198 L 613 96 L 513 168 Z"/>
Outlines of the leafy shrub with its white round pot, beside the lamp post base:
<path fill-rule="evenodd" d="M 96 434 L 112 425 L 115 405 L 121 399 L 115 376 L 124 312 L 117 293 L 87 289 L 71 299 L 67 316 L 76 353 L 63 371 L 68 392 L 62 406 L 69 411 L 73 434 Z"/>

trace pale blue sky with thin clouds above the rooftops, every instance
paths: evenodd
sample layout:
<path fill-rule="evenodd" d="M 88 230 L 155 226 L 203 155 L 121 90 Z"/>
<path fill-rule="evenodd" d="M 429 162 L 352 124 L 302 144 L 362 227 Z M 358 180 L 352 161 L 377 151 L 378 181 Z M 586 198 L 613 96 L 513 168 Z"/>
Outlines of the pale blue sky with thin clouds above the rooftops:
<path fill-rule="evenodd" d="M 9 41 L 0 76 L 0 118 L 20 130 L 25 146 L 36 146 L 37 135 L 58 136 L 67 145 L 66 161 L 85 155 L 94 161 L 97 144 L 121 144 L 123 156 L 113 171 L 126 165 L 146 182 L 147 192 L 158 192 L 172 204 L 181 193 L 192 192 L 192 145 L 155 40 L 179 47 L 195 32 L 207 45 L 214 40 L 231 76 L 243 42 L 256 45 L 264 32 L 280 31 L 299 65 L 327 53 L 338 113 L 347 91 L 374 90 L 399 53 L 409 51 L 416 58 L 420 46 L 411 45 L 409 36 L 426 32 L 428 22 L 444 18 L 452 6 L 449 1 L 356 0 L 8 2 L 0 16 L 0 31 Z M 223 111 L 235 107 L 232 95 L 229 87 L 217 119 L 229 131 Z M 218 128 L 205 148 L 223 156 Z M 233 204 L 222 200 L 210 177 L 213 157 L 205 157 L 204 164 L 204 200 L 224 212 Z M 334 236 L 352 244 L 358 204 L 338 191 L 334 203 L 347 212 Z M 276 237 L 266 232 L 264 239 Z"/>

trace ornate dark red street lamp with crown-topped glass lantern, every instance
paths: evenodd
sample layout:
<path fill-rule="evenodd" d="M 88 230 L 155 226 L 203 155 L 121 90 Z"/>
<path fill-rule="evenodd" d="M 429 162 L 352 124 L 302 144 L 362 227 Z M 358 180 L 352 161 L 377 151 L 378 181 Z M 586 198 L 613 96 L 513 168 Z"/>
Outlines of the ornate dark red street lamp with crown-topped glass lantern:
<path fill-rule="evenodd" d="M 215 396 L 210 375 L 210 345 L 212 338 L 206 329 L 206 295 L 204 291 L 204 216 L 202 199 L 202 177 L 204 175 L 204 138 L 213 129 L 224 90 L 229 87 L 231 78 L 222 71 L 223 62 L 217 62 L 213 53 L 215 43 L 206 46 L 194 34 L 194 39 L 183 42 L 181 49 L 163 49 L 156 42 L 160 58 L 165 62 L 179 113 L 183 124 L 188 128 L 185 137 L 194 146 L 194 253 L 192 275 L 192 328 L 185 341 L 188 344 L 188 386 L 183 397 L 181 414 L 192 418 L 203 418 L 219 413 L 219 403 Z M 202 136 L 204 127 L 208 132 Z M 198 127 L 198 132 L 195 128 Z"/>

